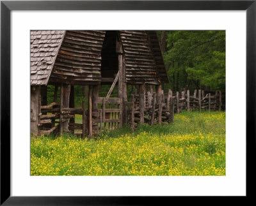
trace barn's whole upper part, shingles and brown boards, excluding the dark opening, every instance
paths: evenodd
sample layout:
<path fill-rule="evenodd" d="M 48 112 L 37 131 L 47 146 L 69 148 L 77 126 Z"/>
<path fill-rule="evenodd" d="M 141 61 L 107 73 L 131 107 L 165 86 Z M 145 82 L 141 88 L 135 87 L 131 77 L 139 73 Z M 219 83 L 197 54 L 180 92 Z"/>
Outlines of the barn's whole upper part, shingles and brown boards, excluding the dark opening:
<path fill-rule="evenodd" d="M 31 31 L 31 85 L 100 84 L 106 31 Z M 156 31 L 119 31 L 130 84 L 168 82 Z"/>

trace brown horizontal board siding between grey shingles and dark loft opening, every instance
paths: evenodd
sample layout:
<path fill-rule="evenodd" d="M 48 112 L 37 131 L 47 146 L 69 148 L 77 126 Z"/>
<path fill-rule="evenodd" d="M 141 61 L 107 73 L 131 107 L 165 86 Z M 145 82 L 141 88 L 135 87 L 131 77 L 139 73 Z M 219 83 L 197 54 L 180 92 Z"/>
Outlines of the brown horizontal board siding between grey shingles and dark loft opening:
<path fill-rule="evenodd" d="M 58 52 L 51 82 L 100 84 L 100 65 L 105 31 L 67 31 Z"/>

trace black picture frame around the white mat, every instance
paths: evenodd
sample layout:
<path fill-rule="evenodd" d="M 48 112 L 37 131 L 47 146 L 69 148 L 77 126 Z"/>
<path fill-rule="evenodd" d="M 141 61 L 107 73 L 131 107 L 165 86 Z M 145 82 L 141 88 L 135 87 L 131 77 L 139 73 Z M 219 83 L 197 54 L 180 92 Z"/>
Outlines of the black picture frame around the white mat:
<path fill-rule="evenodd" d="M 156 202 L 157 205 L 161 205 L 162 201 L 168 202 L 172 198 L 170 196 L 10 196 L 10 12 L 12 10 L 246 10 L 246 199 L 253 198 L 256 145 L 255 0 L 1 1 L 1 205 L 154 205 Z M 214 201 L 213 198 L 211 199 Z M 244 197 L 240 199 L 244 201 Z"/>

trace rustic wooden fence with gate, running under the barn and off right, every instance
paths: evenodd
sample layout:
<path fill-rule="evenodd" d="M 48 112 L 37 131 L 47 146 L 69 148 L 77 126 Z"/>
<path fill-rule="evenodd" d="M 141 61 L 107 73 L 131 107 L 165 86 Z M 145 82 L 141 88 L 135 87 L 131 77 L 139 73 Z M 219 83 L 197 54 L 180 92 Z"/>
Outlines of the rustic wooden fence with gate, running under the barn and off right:
<path fill-rule="evenodd" d="M 225 92 L 200 89 L 195 90 L 193 94 L 189 90 L 173 94 L 169 89 L 167 94 L 161 91 L 158 97 L 156 92 L 147 92 L 143 98 L 140 98 L 139 94 L 132 94 L 131 101 L 123 103 L 120 98 L 99 97 L 97 99 L 96 111 L 92 108 L 86 110 L 84 101 L 82 108 L 66 108 L 63 107 L 63 103 L 56 102 L 40 106 L 38 114 L 40 133 L 45 135 L 63 133 L 65 132 L 63 128 L 68 128 L 68 131 L 84 138 L 86 135 L 92 136 L 92 133 L 99 133 L 103 129 L 116 129 L 122 126 L 122 123 L 134 129 L 139 122 L 150 125 L 173 122 L 174 114 L 182 110 L 189 112 L 225 110 Z M 75 122 L 75 115 L 82 115 L 83 122 Z"/>

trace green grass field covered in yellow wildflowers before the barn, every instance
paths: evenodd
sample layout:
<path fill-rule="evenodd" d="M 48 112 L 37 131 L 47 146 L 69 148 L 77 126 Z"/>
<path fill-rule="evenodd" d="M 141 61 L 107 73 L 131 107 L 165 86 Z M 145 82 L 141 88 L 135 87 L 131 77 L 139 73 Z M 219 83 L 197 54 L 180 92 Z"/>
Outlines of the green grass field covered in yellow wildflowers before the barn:
<path fill-rule="evenodd" d="M 31 175 L 225 175 L 225 112 L 182 112 L 93 140 L 31 136 Z"/>

